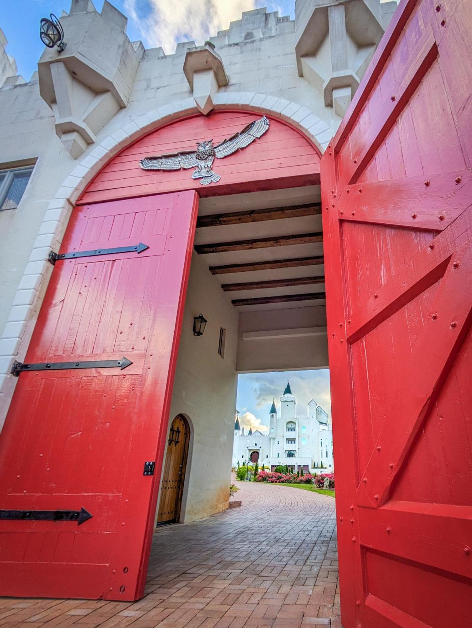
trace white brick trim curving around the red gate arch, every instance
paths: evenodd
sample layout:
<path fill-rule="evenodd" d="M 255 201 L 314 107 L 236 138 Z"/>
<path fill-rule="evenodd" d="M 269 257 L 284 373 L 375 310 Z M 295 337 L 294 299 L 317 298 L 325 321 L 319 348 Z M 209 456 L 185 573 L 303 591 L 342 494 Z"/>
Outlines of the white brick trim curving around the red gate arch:
<path fill-rule="evenodd" d="M 333 129 L 313 111 L 284 98 L 252 92 L 223 92 L 215 96 L 214 103 L 215 111 L 241 109 L 279 118 L 301 131 L 320 155 L 324 153 L 334 134 Z M 17 378 L 10 374 L 11 366 L 14 360 L 22 361 L 26 355 L 53 269 L 47 261 L 48 254 L 51 250 L 59 250 L 73 205 L 94 176 L 115 154 L 143 134 L 197 113 L 200 112 L 196 108 L 195 100 L 187 98 L 134 117 L 122 129 L 105 134 L 100 143 L 82 158 L 57 190 L 41 222 L 0 340 L 0 430 L 17 381 Z"/>

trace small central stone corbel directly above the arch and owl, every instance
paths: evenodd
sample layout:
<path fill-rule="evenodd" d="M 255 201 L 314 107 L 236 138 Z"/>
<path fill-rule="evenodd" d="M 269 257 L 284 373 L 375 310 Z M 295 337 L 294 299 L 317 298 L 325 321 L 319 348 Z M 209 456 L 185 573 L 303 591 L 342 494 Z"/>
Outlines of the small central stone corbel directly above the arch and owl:
<path fill-rule="evenodd" d="M 215 106 L 214 99 L 218 89 L 228 85 L 222 58 L 214 47 L 207 41 L 204 46 L 187 50 L 183 63 L 183 72 L 193 91 L 193 99 L 204 116 Z"/>

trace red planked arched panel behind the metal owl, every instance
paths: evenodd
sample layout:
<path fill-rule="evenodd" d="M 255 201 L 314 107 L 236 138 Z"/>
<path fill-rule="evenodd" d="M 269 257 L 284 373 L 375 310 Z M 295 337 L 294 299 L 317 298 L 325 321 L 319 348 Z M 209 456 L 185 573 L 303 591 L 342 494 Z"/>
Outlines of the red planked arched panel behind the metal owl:
<path fill-rule="evenodd" d="M 217 144 L 260 117 L 247 112 L 212 112 L 168 124 L 121 151 L 89 184 L 79 203 L 112 198 L 196 190 L 200 196 L 253 192 L 319 183 L 319 155 L 298 131 L 277 119 L 262 138 L 213 162 L 222 176 L 218 183 L 201 185 L 192 170 L 152 171 L 139 168 L 144 157 L 193 150 L 203 139 Z"/>

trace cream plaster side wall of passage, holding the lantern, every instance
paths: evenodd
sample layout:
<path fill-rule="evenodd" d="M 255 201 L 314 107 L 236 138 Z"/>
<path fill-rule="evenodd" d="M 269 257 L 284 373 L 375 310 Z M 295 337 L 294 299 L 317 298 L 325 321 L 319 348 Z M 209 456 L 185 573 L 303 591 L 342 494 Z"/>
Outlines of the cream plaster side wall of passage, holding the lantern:
<path fill-rule="evenodd" d="M 208 323 L 195 337 L 193 317 L 200 313 Z M 169 414 L 169 427 L 176 414 L 188 416 L 191 426 L 181 521 L 228 507 L 238 319 L 230 298 L 194 252 Z M 224 358 L 218 354 L 220 327 L 226 330 Z"/>

